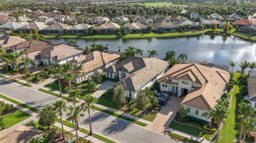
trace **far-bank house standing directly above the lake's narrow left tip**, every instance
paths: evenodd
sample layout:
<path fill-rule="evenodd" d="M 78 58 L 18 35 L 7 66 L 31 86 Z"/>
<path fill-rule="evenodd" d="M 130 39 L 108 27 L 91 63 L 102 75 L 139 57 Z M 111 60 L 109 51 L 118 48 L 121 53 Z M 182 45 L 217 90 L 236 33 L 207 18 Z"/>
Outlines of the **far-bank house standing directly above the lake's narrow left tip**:
<path fill-rule="evenodd" d="M 61 33 L 64 29 L 70 29 L 71 27 L 71 25 L 55 22 L 54 24 L 45 27 L 42 31 L 45 34 L 58 34 Z"/>

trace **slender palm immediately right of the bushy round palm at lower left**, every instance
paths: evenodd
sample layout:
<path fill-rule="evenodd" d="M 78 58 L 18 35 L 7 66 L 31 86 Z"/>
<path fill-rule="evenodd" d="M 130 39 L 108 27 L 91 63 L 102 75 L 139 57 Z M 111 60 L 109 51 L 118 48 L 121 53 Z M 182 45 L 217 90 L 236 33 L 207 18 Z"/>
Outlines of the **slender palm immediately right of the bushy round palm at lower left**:
<path fill-rule="evenodd" d="M 59 100 L 53 104 L 53 110 L 58 114 L 58 116 L 60 116 L 63 140 L 65 140 L 65 134 L 64 134 L 64 128 L 63 128 L 62 115 L 63 115 L 63 112 L 66 112 L 66 109 L 67 109 L 67 106 L 65 101 Z"/>

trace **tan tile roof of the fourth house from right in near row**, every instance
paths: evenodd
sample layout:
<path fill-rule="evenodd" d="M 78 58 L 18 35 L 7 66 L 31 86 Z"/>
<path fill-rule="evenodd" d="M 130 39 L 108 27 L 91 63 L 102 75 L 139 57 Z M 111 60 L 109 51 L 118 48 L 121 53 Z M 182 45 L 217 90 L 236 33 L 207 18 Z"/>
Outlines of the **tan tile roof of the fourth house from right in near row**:
<path fill-rule="evenodd" d="M 40 52 L 41 57 L 54 57 L 56 60 L 64 59 L 66 57 L 75 56 L 81 54 L 83 51 L 77 50 L 72 46 L 66 44 L 60 44 L 58 46 L 52 46 Z"/>

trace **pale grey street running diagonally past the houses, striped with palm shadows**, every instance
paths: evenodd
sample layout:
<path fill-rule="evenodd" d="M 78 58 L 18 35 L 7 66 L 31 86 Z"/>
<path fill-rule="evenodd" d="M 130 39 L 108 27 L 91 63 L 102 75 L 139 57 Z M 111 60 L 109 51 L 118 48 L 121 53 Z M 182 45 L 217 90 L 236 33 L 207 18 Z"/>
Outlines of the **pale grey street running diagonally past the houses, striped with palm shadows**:
<path fill-rule="evenodd" d="M 31 89 L 30 87 L 16 84 L 9 80 L 0 81 L 0 93 L 35 108 L 41 108 L 41 106 L 45 104 L 53 104 L 55 101 L 61 100 L 58 97 Z M 67 104 L 70 105 L 70 103 Z M 88 115 L 85 113 L 85 117 L 79 119 L 80 127 L 89 129 L 89 122 L 87 118 Z M 64 119 L 66 119 L 66 116 L 64 116 Z M 161 135 L 160 133 L 150 131 L 129 121 L 115 118 L 114 116 L 110 116 L 109 114 L 104 114 L 96 110 L 93 112 L 91 119 L 93 121 L 93 131 L 95 133 L 104 135 L 116 142 L 176 142 L 169 136 Z"/>

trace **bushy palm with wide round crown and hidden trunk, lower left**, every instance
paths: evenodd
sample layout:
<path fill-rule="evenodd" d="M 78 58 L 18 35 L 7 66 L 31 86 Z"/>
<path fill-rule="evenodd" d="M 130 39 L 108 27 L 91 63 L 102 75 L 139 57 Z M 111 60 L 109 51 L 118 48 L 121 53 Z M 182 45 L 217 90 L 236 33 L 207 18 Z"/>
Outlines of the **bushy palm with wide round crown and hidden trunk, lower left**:
<path fill-rule="evenodd" d="M 48 129 L 50 129 L 50 127 L 56 122 L 57 115 L 55 114 L 53 107 L 47 104 L 41 108 L 37 118 L 39 118 L 39 125 L 42 127 L 48 127 Z"/>

